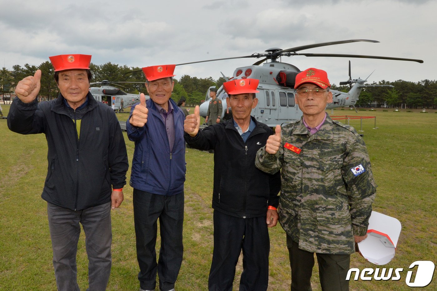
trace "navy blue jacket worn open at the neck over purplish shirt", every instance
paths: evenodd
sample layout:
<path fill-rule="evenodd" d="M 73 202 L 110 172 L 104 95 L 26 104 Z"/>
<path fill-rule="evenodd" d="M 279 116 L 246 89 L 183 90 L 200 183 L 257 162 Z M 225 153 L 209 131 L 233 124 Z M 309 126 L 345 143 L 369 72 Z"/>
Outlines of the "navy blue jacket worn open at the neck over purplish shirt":
<path fill-rule="evenodd" d="M 126 121 L 128 138 L 135 142 L 130 185 L 138 190 L 160 195 L 175 195 L 184 191 L 185 182 L 185 114 L 170 99 L 173 105 L 174 145 L 170 152 L 163 118 L 152 99 L 146 101 L 149 109 L 147 123 L 141 128 Z"/>

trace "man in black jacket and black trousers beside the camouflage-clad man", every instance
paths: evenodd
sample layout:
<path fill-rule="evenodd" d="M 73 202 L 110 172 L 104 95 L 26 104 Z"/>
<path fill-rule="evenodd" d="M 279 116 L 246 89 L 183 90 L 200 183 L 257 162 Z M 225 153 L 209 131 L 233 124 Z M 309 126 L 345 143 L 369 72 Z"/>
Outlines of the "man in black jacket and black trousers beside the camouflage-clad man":
<path fill-rule="evenodd" d="M 231 290 L 235 267 L 243 249 L 239 290 L 267 290 L 270 239 L 267 227 L 277 224 L 279 173 L 255 167 L 257 150 L 272 134 L 271 128 L 250 116 L 258 99 L 259 81 L 232 80 L 223 84 L 232 118 L 199 131 L 196 106 L 185 124 L 185 141 L 194 149 L 214 149 L 214 251 L 209 290 Z"/>

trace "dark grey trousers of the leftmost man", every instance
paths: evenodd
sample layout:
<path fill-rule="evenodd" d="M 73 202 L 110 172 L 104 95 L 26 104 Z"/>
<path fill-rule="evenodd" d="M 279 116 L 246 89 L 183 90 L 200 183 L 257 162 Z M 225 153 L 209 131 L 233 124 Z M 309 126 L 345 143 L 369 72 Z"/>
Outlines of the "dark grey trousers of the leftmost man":
<path fill-rule="evenodd" d="M 106 290 L 111 273 L 111 202 L 81 211 L 47 203 L 47 213 L 58 290 L 80 290 L 76 280 L 76 253 L 80 224 L 85 232 L 89 261 L 87 290 Z"/>

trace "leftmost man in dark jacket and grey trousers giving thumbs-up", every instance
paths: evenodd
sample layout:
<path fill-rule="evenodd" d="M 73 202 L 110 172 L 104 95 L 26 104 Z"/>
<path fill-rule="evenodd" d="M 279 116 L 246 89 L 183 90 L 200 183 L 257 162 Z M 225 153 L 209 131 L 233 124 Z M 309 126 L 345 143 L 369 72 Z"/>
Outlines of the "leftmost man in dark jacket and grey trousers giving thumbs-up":
<path fill-rule="evenodd" d="M 111 208 L 123 201 L 128 157 L 111 107 L 89 93 L 90 55 L 50 57 L 60 94 L 38 103 L 41 71 L 17 84 L 8 127 L 44 133 L 49 162 L 42 198 L 47 201 L 58 290 L 79 290 L 76 251 L 80 223 L 87 237 L 90 290 L 105 290 L 111 271 Z M 112 188 L 113 190 L 111 190 Z"/>

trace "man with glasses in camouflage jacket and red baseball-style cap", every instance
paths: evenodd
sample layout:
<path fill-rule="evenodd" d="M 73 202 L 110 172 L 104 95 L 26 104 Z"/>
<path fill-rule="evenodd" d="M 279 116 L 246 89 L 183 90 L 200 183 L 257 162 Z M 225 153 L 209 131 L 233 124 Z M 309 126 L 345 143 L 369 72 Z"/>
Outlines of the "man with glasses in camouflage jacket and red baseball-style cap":
<path fill-rule="evenodd" d="M 291 290 L 311 290 L 314 253 L 323 290 L 349 290 L 346 281 L 354 243 L 367 237 L 376 184 L 363 139 L 325 112 L 332 102 L 323 70 L 296 76 L 299 121 L 276 126 L 256 166 L 281 170 L 279 222 L 287 233 Z"/>

